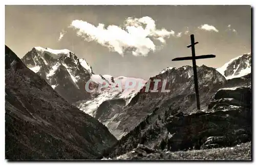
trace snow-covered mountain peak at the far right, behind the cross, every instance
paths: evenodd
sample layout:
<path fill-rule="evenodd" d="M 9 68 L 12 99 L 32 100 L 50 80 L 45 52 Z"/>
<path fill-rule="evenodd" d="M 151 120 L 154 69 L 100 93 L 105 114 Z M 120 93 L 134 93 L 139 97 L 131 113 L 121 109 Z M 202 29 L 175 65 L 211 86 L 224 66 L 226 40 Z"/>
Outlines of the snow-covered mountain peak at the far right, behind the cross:
<path fill-rule="evenodd" d="M 251 73 L 251 53 L 245 53 L 242 56 L 234 58 L 217 68 L 226 79 L 242 77 Z"/>

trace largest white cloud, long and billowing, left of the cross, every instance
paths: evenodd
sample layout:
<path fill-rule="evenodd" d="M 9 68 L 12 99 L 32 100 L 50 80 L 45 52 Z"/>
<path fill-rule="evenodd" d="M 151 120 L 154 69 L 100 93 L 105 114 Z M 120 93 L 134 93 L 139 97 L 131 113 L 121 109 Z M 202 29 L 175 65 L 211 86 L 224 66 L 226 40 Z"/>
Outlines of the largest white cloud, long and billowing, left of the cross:
<path fill-rule="evenodd" d="M 147 56 L 148 52 L 155 51 L 158 40 L 162 44 L 166 38 L 175 36 L 174 31 L 157 29 L 155 20 L 151 17 L 128 17 L 123 26 L 99 23 L 95 26 L 82 20 L 73 20 L 69 28 L 74 28 L 76 35 L 85 41 L 96 41 L 123 56 L 124 52 L 131 51 L 134 56 Z M 179 34 L 178 34 L 179 35 Z M 63 36 L 62 36 L 63 37 Z"/>

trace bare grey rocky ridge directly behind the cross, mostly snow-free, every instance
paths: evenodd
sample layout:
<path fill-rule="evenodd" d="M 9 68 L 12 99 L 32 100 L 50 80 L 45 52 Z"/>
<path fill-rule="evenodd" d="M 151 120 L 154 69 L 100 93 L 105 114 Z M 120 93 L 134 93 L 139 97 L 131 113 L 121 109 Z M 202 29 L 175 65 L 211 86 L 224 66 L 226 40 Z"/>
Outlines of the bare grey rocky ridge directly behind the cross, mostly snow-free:
<path fill-rule="evenodd" d="M 226 84 L 226 79 L 214 68 L 201 66 L 198 67 L 199 90 L 201 98 L 201 108 L 206 109 L 207 103 L 217 90 Z M 158 114 L 162 117 L 165 109 L 172 104 L 173 108 L 180 107 L 187 113 L 194 112 L 196 109 L 196 97 L 194 92 L 193 68 L 184 66 L 181 68 L 169 69 L 148 80 L 149 89 L 154 89 L 154 80 L 161 79 L 158 84 L 158 92 L 145 92 L 143 87 L 131 102 L 124 106 L 122 111 L 115 116 L 112 122 L 119 122 L 116 132 L 121 132 L 117 139 L 131 131 L 136 125 L 151 114 L 156 107 L 162 109 Z M 164 79 L 167 80 L 166 87 Z M 161 92 L 162 87 L 170 92 Z M 106 109 L 109 107 L 105 107 Z M 112 108 L 112 107 L 111 107 Z M 108 110 L 105 110 L 108 111 Z M 132 122 L 131 122 L 132 121 Z"/>

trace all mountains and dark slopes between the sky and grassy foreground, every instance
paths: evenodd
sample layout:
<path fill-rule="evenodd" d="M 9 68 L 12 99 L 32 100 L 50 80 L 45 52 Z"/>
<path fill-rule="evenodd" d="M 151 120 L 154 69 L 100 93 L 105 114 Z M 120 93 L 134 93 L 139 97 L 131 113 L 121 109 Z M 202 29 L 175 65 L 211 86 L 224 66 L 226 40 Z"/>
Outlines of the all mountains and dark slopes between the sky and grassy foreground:
<path fill-rule="evenodd" d="M 7 143 L 13 149 L 6 157 L 115 158 L 139 144 L 178 151 L 227 147 L 211 136 L 230 145 L 251 141 L 251 53 L 217 69 L 197 66 L 197 72 L 200 111 L 191 66 L 168 67 L 148 80 L 113 77 L 95 74 L 85 59 L 67 49 L 34 47 L 20 60 L 6 46 L 6 134 L 14 139 Z M 156 79 L 161 80 L 158 92 L 145 92 L 155 88 Z M 89 81 L 94 92 L 85 90 Z M 129 81 L 136 86 L 126 90 Z M 161 92 L 163 88 L 169 92 Z M 227 122 L 219 122 L 222 118 Z M 47 153 L 49 145 L 33 146 L 38 137 L 28 138 L 32 130 L 43 134 L 42 144 L 50 141 L 55 150 Z M 18 157 L 11 144 L 20 151 L 26 146 L 28 152 Z"/>

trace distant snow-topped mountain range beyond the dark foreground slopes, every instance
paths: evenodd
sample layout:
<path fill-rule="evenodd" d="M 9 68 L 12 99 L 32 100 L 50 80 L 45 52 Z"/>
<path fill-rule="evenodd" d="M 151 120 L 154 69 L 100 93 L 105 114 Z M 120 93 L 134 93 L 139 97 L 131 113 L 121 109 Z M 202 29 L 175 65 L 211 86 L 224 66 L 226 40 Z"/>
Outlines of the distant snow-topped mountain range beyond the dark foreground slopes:
<path fill-rule="evenodd" d="M 60 96 L 78 107 L 81 111 L 91 115 L 106 125 L 110 132 L 120 139 L 135 127 L 156 106 L 167 108 L 169 102 L 179 105 L 192 113 L 196 109 L 194 95 L 193 68 L 183 66 L 180 68 L 168 67 L 149 80 L 132 77 L 116 77 L 111 75 L 94 74 L 92 67 L 84 59 L 79 59 L 70 50 L 53 50 L 51 48 L 34 47 L 23 58 L 27 67 L 44 78 Z M 233 76 L 241 77 L 251 71 L 251 54 L 246 53 L 234 58 L 220 68 L 211 68 L 205 65 L 198 67 L 199 90 L 202 111 L 207 107 L 212 95 L 221 87 L 232 86 Z M 165 89 L 168 93 L 145 93 L 133 88 L 124 91 L 125 82 L 129 80 L 150 83 L 150 90 L 154 88 L 154 79 L 167 79 Z M 93 81 L 94 88 L 107 85 L 97 92 L 89 93 L 84 90 L 88 80 Z M 121 80 L 122 91 L 116 87 L 116 81 Z M 246 80 L 238 80 L 245 86 Z M 137 85 L 137 84 L 136 84 Z M 161 83 L 158 89 L 161 89 Z M 107 105 L 107 106 L 106 106 Z"/>

